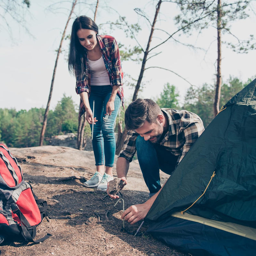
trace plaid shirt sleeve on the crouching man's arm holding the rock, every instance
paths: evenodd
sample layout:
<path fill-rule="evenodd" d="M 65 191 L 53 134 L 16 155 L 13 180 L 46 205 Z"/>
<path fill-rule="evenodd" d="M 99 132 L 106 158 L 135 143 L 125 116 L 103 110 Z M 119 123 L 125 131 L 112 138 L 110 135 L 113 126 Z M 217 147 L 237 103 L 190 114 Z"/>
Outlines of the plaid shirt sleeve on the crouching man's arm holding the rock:
<path fill-rule="evenodd" d="M 118 157 L 124 157 L 130 163 L 132 162 L 132 158 L 136 152 L 136 139 L 138 135 L 139 134 L 136 132 L 128 131 L 126 140 L 124 141 L 124 146 Z"/>

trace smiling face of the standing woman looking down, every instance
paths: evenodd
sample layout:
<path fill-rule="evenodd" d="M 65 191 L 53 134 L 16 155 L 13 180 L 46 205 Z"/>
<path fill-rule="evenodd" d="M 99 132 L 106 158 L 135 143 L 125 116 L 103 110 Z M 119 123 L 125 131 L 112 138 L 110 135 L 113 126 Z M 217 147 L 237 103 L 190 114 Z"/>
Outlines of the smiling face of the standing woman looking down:
<path fill-rule="evenodd" d="M 92 51 L 97 45 L 96 39 L 97 32 L 91 29 L 81 28 L 77 30 L 76 35 L 78 37 L 79 43 L 87 50 Z"/>

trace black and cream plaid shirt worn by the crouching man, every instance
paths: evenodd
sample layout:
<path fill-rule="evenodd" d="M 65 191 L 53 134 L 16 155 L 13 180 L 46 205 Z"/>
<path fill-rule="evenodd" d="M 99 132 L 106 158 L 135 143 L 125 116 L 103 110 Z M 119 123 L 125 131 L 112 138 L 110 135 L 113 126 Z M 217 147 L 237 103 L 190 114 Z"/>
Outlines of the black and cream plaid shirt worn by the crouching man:
<path fill-rule="evenodd" d="M 204 131 L 204 124 L 199 116 L 187 110 L 175 110 L 171 108 L 161 108 L 168 116 L 169 131 L 164 135 L 160 145 L 171 151 L 175 156 L 179 156 L 177 164 L 186 155 L 197 138 Z M 136 152 L 136 138 L 140 136 L 135 131 L 128 131 L 124 141 L 124 147 L 118 157 L 124 157 L 129 162 Z"/>

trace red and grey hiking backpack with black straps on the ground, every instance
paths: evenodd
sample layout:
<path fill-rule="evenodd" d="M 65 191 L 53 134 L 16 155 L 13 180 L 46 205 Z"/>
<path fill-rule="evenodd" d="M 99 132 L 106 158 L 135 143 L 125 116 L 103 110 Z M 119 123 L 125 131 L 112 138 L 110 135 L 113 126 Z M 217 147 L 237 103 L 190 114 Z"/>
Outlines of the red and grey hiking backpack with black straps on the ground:
<path fill-rule="evenodd" d="M 34 240 L 36 226 L 46 216 L 47 203 L 38 199 L 9 149 L 0 143 L 0 244 L 4 240 L 25 239 L 39 243 L 51 236 Z"/>

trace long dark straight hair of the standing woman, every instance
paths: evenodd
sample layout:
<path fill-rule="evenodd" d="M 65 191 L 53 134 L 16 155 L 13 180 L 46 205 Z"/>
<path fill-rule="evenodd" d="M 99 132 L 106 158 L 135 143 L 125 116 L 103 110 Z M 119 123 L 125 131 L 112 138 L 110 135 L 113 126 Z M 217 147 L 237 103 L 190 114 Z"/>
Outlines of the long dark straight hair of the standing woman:
<path fill-rule="evenodd" d="M 79 77 L 82 77 L 84 74 L 83 53 L 85 50 L 85 48 L 79 43 L 76 35 L 77 30 L 81 28 L 94 30 L 97 34 L 99 31 L 95 22 L 87 16 L 80 16 L 74 20 L 68 53 L 68 70 L 70 73 Z"/>

